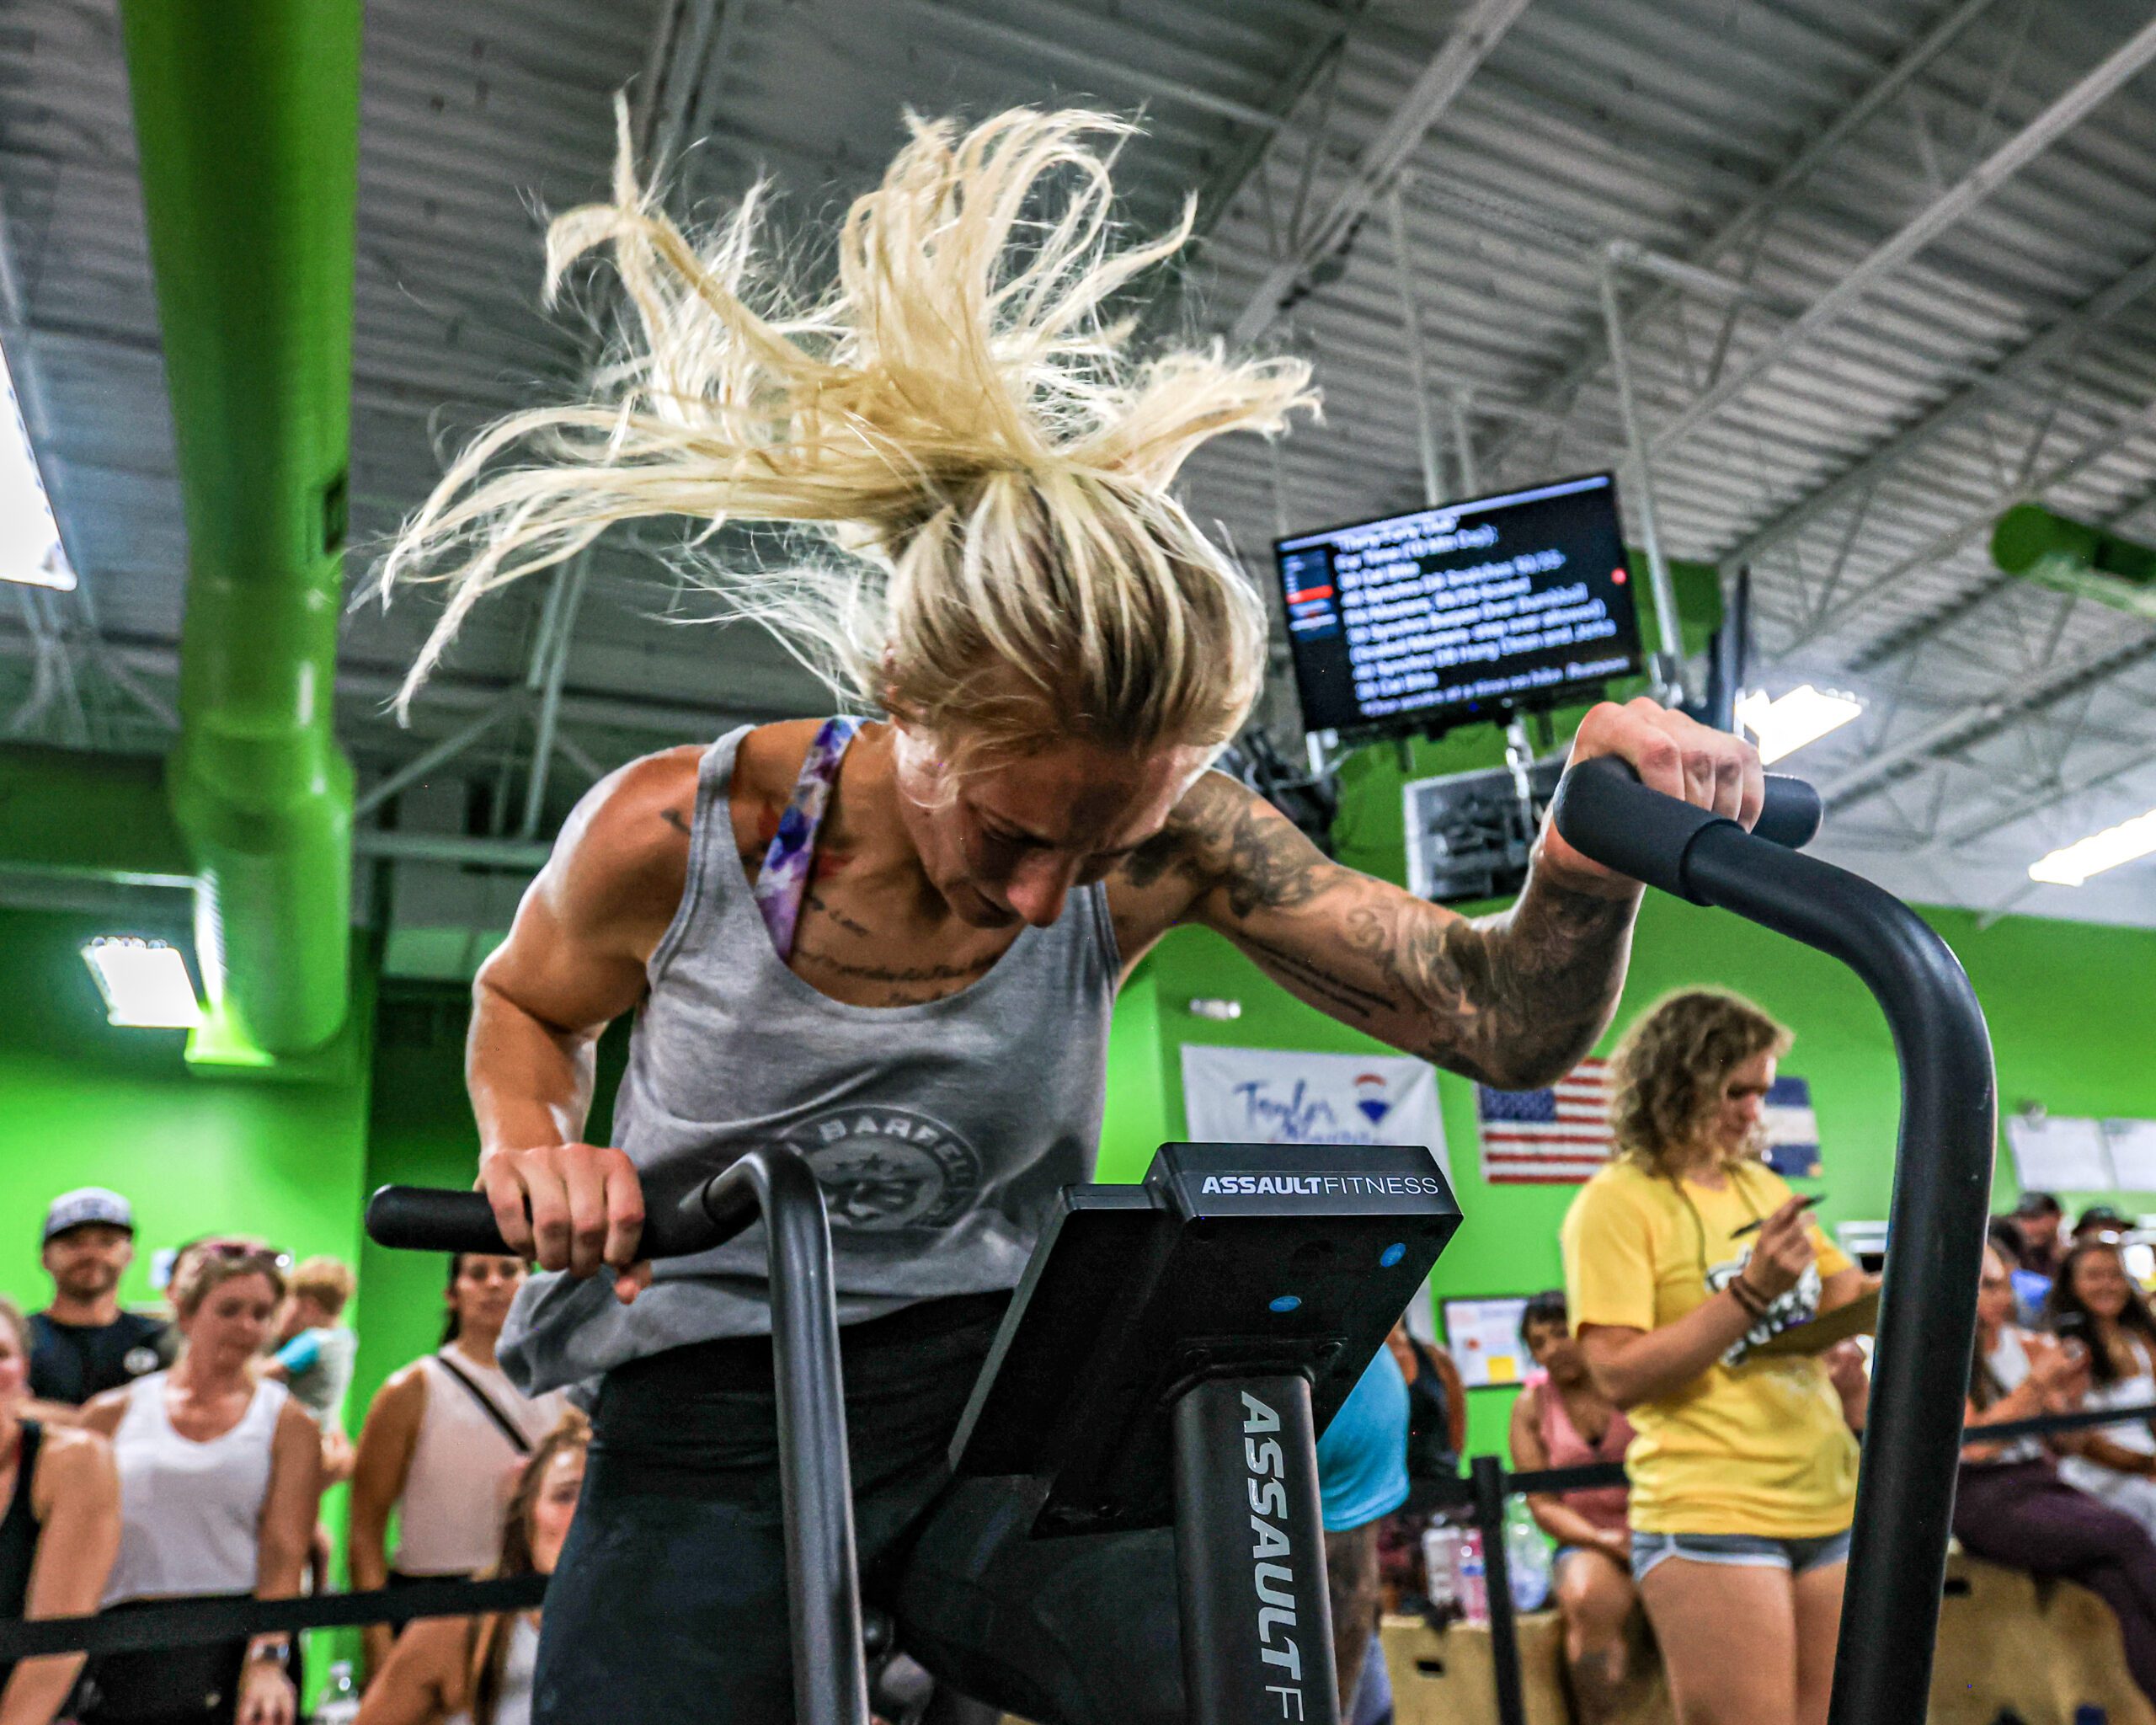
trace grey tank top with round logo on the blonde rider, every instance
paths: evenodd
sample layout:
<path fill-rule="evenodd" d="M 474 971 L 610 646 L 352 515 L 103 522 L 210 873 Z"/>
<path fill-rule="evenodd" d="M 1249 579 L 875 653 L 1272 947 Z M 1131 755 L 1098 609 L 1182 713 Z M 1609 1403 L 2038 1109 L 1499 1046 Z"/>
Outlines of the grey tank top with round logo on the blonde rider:
<path fill-rule="evenodd" d="M 651 1203 L 750 1145 L 800 1149 L 830 1205 L 841 1324 L 1015 1287 L 1056 1190 L 1089 1179 L 1100 1147 L 1121 968 L 1108 888 L 1072 893 L 1054 927 L 1022 929 L 957 994 L 832 1000 L 778 960 L 735 852 L 727 791 L 746 733 L 711 744 L 696 774 L 688 886 L 647 966 L 614 1143 Z M 761 1227 L 653 1274 L 632 1307 L 606 1276 L 530 1276 L 502 1369 L 533 1395 L 664 1348 L 770 1333 Z"/>

